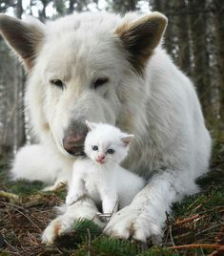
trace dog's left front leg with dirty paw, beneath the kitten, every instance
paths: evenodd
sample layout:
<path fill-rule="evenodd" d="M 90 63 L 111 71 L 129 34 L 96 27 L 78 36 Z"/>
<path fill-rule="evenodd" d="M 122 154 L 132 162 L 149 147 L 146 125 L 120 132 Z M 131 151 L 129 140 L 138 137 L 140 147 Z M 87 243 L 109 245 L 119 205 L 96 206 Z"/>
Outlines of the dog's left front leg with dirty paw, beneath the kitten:
<path fill-rule="evenodd" d="M 58 216 L 44 230 L 42 242 L 52 245 L 56 237 L 69 233 L 75 221 L 79 219 L 92 220 L 95 224 L 104 226 L 97 217 L 98 209 L 90 198 L 82 198 L 69 205 L 63 215 Z"/>

